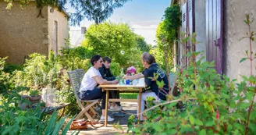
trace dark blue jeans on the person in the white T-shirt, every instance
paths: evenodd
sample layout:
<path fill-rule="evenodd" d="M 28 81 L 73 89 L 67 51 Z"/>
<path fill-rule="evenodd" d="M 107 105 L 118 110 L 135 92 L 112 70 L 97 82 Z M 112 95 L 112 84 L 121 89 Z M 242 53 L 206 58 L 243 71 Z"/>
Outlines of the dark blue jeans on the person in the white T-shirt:
<path fill-rule="evenodd" d="M 82 91 L 79 95 L 80 99 L 83 100 L 94 100 L 102 99 L 101 108 L 105 109 L 106 103 L 106 92 L 102 92 L 101 88 L 95 87 L 92 91 Z"/>

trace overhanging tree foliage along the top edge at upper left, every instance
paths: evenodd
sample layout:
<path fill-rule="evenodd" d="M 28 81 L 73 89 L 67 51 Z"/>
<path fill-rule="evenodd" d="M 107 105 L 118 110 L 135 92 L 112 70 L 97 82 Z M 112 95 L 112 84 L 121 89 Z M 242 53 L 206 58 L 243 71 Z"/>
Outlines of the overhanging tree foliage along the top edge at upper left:
<path fill-rule="evenodd" d="M 93 20 L 94 23 L 102 23 L 112 15 L 114 9 L 123 7 L 130 0 L 36 0 L 37 8 L 41 9 L 44 6 L 58 8 L 59 11 L 65 9 L 65 5 L 69 2 L 71 7 L 76 12 L 71 14 L 71 24 L 80 24 L 81 20 Z M 12 0 L 8 2 L 6 9 L 12 8 Z M 30 0 L 19 0 L 21 7 L 27 5 Z"/>

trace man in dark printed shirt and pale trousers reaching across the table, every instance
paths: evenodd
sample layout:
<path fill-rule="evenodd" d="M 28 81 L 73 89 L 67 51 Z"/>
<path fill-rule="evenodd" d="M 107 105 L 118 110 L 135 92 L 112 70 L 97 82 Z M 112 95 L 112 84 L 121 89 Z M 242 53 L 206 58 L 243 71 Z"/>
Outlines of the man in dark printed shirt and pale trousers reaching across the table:
<path fill-rule="evenodd" d="M 135 80 L 144 77 L 146 89 L 141 94 L 140 102 L 140 120 L 142 118 L 142 112 L 144 112 L 145 101 L 148 97 L 153 97 L 159 101 L 166 100 L 166 95 L 169 93 L 169 83 L 166 73 L 155 62 L 155 57 L 148 52 L 144 52 L 141 55 L 141 63 L 146 68 L 142 73 L 138 73 L 134 76 L 124 76 L 127 80 Z M 159 82 L 157 84 L 157 82 Z M 163 82 L 163 83 L 161 83 Z"/>

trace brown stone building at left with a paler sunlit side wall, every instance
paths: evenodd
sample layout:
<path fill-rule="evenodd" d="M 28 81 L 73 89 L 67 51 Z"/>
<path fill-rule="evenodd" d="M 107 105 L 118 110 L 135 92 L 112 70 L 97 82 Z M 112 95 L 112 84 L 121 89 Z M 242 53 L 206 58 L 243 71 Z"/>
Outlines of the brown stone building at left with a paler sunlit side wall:
<path fill-rule="evenodd" d="M 19 2 L 12 2 L 12 9 L 5 9 L 7 2 L 0 1 L 0 57 L 7 62 L 22 64 L 31 53 L 48 55 L 51 50 L 59 54 L 69 36 L 69 15 L 51 7 L 37 9 L 30 2 L 23 9 Z"/>

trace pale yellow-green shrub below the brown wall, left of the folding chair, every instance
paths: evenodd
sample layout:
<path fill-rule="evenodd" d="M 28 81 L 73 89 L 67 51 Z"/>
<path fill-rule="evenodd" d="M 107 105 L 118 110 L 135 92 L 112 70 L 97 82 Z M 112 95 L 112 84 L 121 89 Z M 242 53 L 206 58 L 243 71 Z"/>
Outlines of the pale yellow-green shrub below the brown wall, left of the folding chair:
<path fill-rule="evenodd" d="M 51 59 L 52 55 L 51 52 L 50 59 L 37 53 L 29 55 L 30 59 L 26 59 L 23 70 L 16 71 L 13 76 L 16 87 L 24 86 L 35 90 L 40 90 L 43 87 L 55 87 L 61 65 Z"/>

